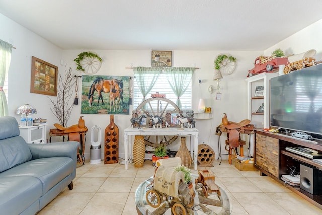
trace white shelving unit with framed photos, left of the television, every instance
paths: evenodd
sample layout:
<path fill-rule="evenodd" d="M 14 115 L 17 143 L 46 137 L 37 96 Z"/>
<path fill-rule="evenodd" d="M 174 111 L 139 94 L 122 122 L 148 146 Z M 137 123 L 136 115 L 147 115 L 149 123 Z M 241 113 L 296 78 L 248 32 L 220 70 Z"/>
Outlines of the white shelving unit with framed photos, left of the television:
<path fill-rule="evenodd" d="M 257 128 L 269 128 L 269 104 L 270 104 L 270 79 L 278 76 L 278 73 L 261 73 L 246 79 L 247 81 L 247 99 L 248 99 L 248 119 L 251 124 Z M 264 86 L 264 94 L 255 97 L 255 88 Z M 258 108 L 264 103 L 264 113 L 256 113 Z"/>

